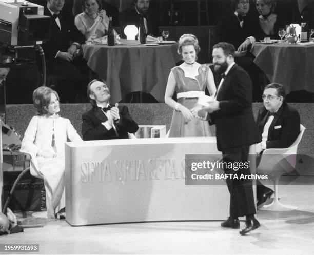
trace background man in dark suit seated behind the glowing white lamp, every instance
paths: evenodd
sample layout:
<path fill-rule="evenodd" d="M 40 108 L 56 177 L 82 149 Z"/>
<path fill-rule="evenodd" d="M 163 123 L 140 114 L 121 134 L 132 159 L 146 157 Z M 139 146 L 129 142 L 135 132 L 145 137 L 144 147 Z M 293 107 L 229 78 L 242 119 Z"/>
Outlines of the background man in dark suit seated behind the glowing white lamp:
<path fill-rule="evenodd" d="M 120 13 L 120 35 L 126 38 L 124 28 L 127 25 L 135 25 L 140 27 L 140 17 L 144 16 L 144 25 L 146 34 L 158 36 L 158 26 L 153 11 L 149 9 L 150 0 L 133 0 L 134 6 L 130 9 L 125 9 Z"/>

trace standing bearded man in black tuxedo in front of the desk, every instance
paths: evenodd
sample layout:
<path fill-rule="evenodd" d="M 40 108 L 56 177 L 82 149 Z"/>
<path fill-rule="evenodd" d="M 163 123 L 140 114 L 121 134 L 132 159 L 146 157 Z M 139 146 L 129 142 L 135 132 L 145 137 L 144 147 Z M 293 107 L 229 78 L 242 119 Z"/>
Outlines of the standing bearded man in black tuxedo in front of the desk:
<path fill-rule="evenodd" d="M 229 43 L 213 46 L 214 70 L 222 74 L 222 80 L 214 100 L 209 106 L 194 107 L 192 113 L 208 111 L 216 125 L 217 148 L 227 164 L 248 162 L 249 146 L 260 141 L 254 121 L 251 95 L 252 83 L 248 73 L 234 62 L 234 47 Z M 247 164 L 247 163 L 246 163 Z M 224 169 L 225 173 L 250 175 L 249 169 Z M 239 217 L 246 216 L 246 226 L 240 234 L 246 234 L 260 226 L 256 214 L 251 180 L 227 180 L 230 192 L 230 216 L 222 227 L 240 228 Z"/>

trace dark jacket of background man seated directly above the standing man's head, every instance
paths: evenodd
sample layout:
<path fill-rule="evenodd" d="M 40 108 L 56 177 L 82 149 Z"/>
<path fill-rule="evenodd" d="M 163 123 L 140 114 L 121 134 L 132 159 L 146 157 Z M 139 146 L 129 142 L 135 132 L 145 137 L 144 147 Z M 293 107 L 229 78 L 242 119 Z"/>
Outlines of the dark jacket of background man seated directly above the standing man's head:
<path fill-rule="evenodd" d="M 214 43 L 230 43 L 237 50 L 247 37 L 261 32 L 258 18 L 246 15 L 241 28 L 238 17 L 232 13 L 222 17 L 218 22 L 214 32 Z"/>

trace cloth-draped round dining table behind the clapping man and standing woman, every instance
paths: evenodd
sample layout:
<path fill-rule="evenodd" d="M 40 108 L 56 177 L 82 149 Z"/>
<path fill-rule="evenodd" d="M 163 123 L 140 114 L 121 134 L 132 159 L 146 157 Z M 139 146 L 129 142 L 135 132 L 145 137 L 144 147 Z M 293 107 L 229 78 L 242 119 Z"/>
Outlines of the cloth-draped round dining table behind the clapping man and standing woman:
<path fill-rule="evenodd" d="M 171 68 L 181 59 L 178 44 L 85 44 L 87 65 L 110 89 L 111 103 L 120 102 L 130 92 L 151 94 L 164 102 Z"/>

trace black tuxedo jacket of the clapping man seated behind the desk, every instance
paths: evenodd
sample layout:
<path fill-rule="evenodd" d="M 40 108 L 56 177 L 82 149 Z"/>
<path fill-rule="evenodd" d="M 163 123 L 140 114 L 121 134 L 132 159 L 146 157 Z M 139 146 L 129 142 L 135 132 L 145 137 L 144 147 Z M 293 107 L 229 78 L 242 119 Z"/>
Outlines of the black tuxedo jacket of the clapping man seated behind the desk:
<path fill-rule="evenodd" d="M 132 120 L 129 109 L 127 106 L 118 106 L 120 111 L 120 120 L 114 123 L 117 133 L 116 136 L 114 129 L 108 130 L 102 122 L 108 120 L 104 112 L 97 106 L 85 112 L 82 115 L 82 135 L 83 140 L 106 140 L 106 139 L 125 139 L 128 138 L 129 133 L 138 131 L 139 126 Z"/>

